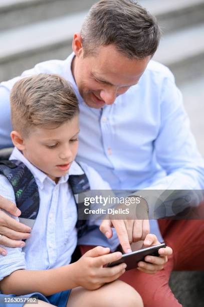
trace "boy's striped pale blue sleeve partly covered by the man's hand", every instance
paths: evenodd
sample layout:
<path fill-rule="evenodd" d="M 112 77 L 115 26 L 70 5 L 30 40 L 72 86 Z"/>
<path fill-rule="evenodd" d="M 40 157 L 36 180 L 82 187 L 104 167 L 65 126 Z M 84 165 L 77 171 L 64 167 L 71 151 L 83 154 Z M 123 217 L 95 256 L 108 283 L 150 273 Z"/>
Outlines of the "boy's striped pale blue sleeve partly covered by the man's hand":
<path fill-rule="evenodd" d="M 14 190 L 3 175 L 0 175 L 0 195 L 15 203 Z M 19 221 L 18 217 L 11 215 L 5 210 L 2 211 Z M 26 269 L 25 253 L 22 251 L 22 248 L 10 248 L 1 244 L 0 247 L 4 247 L 7 250 L 7 256 L 0 255 L 0 280 L 16 270 Z"/>

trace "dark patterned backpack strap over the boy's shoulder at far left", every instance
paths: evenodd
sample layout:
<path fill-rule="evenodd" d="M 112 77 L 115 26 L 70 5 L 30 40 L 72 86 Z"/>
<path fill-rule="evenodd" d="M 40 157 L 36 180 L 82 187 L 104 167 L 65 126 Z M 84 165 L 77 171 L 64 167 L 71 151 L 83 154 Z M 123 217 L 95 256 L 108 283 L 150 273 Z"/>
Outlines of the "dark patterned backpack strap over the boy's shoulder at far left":
<path fill-rule="evenodd" d="M 16 205 L 21 210 L 20 221 L 33 227 L 38 215 L 40 197 L 38 186 L 31 171 L 17 160 L 0 161 L 0 174 L 11 183 Z"/>

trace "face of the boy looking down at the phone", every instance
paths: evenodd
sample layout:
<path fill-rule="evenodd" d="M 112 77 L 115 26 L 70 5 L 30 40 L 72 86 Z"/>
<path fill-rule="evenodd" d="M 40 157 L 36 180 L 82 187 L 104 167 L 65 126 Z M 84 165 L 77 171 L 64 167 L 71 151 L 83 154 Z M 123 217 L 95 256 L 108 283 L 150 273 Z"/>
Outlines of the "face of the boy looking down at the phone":
<path fill-rule="evenodd" d="M 78 149 L 79 116 L 58 128 L 37 127 L 23 140 L 24 156 L 54 181 L 69 172 Z M 18 146 L 17 146 L 18 147 Z"/>

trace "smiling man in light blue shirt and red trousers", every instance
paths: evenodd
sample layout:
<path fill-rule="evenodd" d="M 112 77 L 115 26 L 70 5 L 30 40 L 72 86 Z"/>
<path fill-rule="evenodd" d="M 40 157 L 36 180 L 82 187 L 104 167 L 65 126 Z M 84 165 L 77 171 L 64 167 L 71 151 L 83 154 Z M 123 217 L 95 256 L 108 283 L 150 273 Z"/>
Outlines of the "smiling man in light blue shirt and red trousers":
<path fill-rule="evenodd" d="M 204 164 L 174 78 L 166 67 L 150 61 L 159 38 L 157 22 L 139 5 L 130 0 L 101 0 L 74 35 L 74 54 L 65 61 L 40 63 L 22 74 L 58 73 L 73 84 L 81 112 L 78 160 L 94 167 L 113 189 L 199 190 L 204 186 Z M 0 88 L 3 147 L 11 144 L 9 92 L 18 79 L 3 82 Z M 14 214 L 14 206 L 6 200 L 1 206 Z M 16 246 L 14 239 L 28 236 L 22 234 L 28 232 L 26 226 L 12 223 L 5 214 L 1 217 L 0 242 Z M 129 242 L 143 238 L 148 228 L 145 220 L 104 221 L 101 230 L 108 238 L 112 224 L 126 252 Z M 150 224 L 158 236 L 157 222 Z M 123 280 L 137 289 L 145 306 L 180 306 L 168 278 L 181 263 L 182 269 L 203 267 L 199 257 L 203 225 L 161 221 L 159 226 L 164 241 L 174 249 L 174 258 L 152 278 L 140 272 L 151 266 L 145 263 L 125 273 Z"/>

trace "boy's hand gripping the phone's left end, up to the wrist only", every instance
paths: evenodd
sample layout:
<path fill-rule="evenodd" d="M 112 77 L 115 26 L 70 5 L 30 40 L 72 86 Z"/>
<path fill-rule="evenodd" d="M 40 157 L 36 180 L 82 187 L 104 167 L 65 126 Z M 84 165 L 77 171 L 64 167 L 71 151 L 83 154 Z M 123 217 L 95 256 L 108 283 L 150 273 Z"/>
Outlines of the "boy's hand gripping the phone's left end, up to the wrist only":
<path fill-rule="evenodd" d="M 107 282 L 116 280 L 125 272 L 126 264 L 121 263 L 114 267 L 103 266 L 121 257 L 121 252 L 110 253 L 109 248 L 102 246 L 90 249 L 78 261 L 71 264 L 76 286 L 95 290 Z"/>

